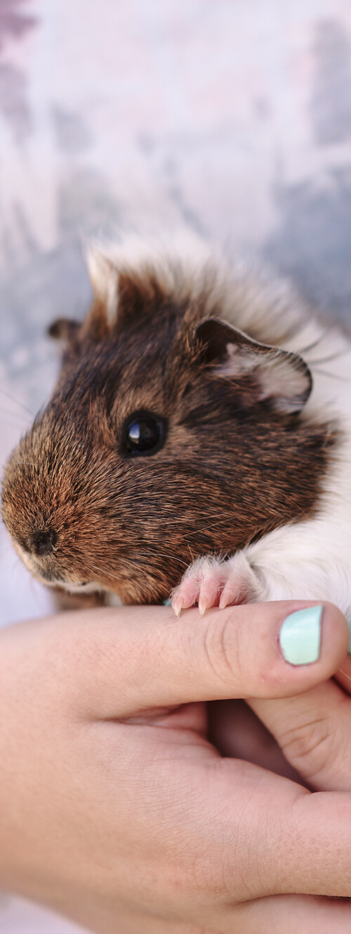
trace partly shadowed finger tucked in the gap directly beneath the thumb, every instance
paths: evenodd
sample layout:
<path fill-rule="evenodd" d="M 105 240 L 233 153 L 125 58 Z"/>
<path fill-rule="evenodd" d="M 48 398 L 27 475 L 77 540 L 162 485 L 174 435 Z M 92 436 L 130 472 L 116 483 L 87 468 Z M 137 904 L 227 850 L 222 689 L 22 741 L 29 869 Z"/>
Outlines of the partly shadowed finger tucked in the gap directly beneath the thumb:
<path fill-rule="evenodd" d="M 313 789 L 349 790 L 350 704 L 344 692 L 351 693 L 350 657 L 343 659 L 333 681 L 308 695 L 279 702 L 214 701 L 209 710 L 211 739 L 223 756 L 247 759 Z"/>

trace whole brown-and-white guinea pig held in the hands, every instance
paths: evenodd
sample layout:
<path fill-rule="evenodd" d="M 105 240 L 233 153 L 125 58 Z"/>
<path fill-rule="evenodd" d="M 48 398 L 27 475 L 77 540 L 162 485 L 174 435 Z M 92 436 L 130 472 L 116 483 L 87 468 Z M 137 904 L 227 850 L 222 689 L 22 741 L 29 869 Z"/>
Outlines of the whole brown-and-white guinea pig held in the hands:
<path fill-rule="evenodd" d="M 93 247 L 93 302 L 5 469 L 29 570 L 176 614 L 290 598 L 351 610 L 351 347 L 201 242 Z"/>

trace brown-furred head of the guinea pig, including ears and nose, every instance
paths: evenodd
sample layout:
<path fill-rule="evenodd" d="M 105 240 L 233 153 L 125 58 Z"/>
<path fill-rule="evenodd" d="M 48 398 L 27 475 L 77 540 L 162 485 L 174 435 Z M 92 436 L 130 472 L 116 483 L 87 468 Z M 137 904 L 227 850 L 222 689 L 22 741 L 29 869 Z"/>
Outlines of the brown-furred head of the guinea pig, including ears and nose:
<path fill-rule="evenodd" d="M 51 328 L 61 375 L 7 462 L 2 511 L 49 586 L 158 602 L 196 557 L 311 514 L 331 435 L 302 416 L 300 357 L 152 271 L 111 276 L 82 324 Z"/>

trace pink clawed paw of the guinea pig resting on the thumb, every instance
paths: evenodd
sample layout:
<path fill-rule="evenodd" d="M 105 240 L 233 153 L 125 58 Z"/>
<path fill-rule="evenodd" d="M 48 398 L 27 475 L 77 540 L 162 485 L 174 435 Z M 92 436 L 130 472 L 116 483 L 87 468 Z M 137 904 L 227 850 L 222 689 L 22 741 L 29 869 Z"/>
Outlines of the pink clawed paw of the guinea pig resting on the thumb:
<path fill-rule="evenodd" d="M 198 603 L 201 616 L 211 606 L 234 606 L 237 603 L 256 603 L 263 600 L 264 587 L 253 571 L 244 551 L 232 558 L 206 555 L 190 564 L 180 584 L 173 590 L 172 606 L 179 616 Z"/>

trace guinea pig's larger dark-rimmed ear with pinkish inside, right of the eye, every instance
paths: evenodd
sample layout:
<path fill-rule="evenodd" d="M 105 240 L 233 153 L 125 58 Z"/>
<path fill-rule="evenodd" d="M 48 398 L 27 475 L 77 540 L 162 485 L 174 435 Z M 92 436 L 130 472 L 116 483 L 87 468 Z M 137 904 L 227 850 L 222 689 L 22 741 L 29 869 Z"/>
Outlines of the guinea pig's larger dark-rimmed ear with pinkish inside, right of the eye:
<path fill-rule="evenodd" d="M 269 401 L 275 411 L 300 412 L 312 389 L 312 375 L 298 354 L 260 344 L 217 318 L 206 318 L 195 336 L 203 360 L 217 376 L 240 380 L 250 375 L 251 404 Z"/>

